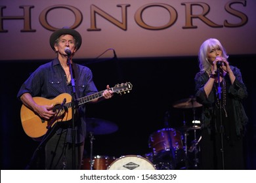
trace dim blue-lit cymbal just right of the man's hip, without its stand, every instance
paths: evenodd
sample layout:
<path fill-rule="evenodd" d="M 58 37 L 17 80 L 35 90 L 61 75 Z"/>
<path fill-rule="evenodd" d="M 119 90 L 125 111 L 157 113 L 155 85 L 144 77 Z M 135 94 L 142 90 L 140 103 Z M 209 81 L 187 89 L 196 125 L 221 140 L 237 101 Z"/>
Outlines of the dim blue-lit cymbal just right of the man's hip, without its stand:
<path fill-rule="evenodd" d="M 118 127 L 113 122 L 97 119 L 86 118 L 87 132 L 91 132 L 94 135 L 106 135 L 117 131 Z"/>

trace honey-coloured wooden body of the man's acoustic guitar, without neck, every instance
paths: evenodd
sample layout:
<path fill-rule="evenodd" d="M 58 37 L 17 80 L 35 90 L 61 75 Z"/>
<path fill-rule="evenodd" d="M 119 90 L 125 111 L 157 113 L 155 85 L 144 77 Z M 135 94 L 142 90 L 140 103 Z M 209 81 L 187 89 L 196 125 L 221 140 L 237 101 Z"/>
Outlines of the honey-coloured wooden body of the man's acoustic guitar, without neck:
<path fill-rule="evenodd" d="M 55 97 L 54 99 L 45 99 L 43 97 L 33 97 L 35 103 L 40 105 L 61 105 L 63 99 L 66 98 L 67 102 L 72 101 L 72 96 L 68 93 L 62 93 Z M 20 110 L 20 118 L 22 121 L 22 127 L 25 131 L 25 133 L 32 138 L 38 138 L 42 137 L 47 133 L 47 127 L 49 124 L 51 124 L 52 119 L 49 121 L 42 120 L 37 114 L 35 114 L 30 108 L 26 107 L 25 105 L 22 105 L 22 108 Z M 62 120 L 63 118 L 63 120 Z M 62 113 L 61 119 L 58 118 L 58 120 L 54 121 L 53 124 L 51 124 L 51 127 L 56 124 L 58 121 L 68 121 L 72 119 L 72 108 L 68 108 L 67 112 Z"/>

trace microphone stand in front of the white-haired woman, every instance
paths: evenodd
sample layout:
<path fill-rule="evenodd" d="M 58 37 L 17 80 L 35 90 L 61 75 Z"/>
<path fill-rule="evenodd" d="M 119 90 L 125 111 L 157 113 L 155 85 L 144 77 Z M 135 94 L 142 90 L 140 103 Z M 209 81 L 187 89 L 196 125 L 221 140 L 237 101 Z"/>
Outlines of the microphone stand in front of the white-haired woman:
<path fill-rule="evenodd" d="M 220 80 L 220 73 L 221 69 L 217 68 L 217 76 L 218 76 L 218 90 L 217 90 L 217 97 L 219 99 L 219 111 L 220 111 L 220 132 L 221 132 L 221 158 L 222 158 L 222 167 L 224 170 L 224 146 L 223 146 L 223 133 L 224 133 L 224 127 L 223 127 L 223 120 L 222 120 L 222 103 L 221 103 L 221 80 Z"/>

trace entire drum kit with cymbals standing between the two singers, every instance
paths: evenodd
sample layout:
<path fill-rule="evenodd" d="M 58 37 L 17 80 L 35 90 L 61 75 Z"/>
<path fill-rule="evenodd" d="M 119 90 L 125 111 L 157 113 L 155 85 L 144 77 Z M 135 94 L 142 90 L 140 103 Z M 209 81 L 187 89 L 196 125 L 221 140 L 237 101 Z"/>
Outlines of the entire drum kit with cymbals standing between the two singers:
<path fill-rule="evenodd" d="M 182 99 L 173 104 L 174 108 L 192 108 L 193 122 L 196 121 L 195 110 L 202 107 L 194 97 Z M 94 135 L 114 133 L 118 127 L 113 122 L 96 118 L 87 118 L 87 131 L 90 138 L 90 156 L 83 158 L 81 169 L 85 170 L 169 170 L 169 169 L 198 169 L 198 129 L 200 125 L 181 127 L 166 127 L 155 131 L 148 138 L 151 152 L 140 155 L 93 156 Z M 194 131 L 194 139 L 188 147 L 188 132 Z M 188 152 L 193 158 L 188 156 Z M 190 160 L 192 159 L 192 160 Z"/>

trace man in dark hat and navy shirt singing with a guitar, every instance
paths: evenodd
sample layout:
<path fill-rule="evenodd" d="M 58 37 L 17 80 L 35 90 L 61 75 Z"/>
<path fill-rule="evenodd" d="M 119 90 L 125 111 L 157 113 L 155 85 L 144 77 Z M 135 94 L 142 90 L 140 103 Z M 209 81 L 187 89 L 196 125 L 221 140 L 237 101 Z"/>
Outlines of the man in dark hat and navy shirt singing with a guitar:
<path fill-rule="evenodd" d="M 58 112 L 60 112 L 61 108 L 54 110 L 53 104 L 38 103 L 34 97 L 43 97 L 51 100 L 62 93 L 72 95 L 74 93 L 72 76 L 77 99 L 98 92 L 93 82 L 91 70 L 88 67 L 72 62 L 72 57 L 79 50 L 81 42 L 81 35 L 74 29 L 63 27 L 54 31 L 50 37 L 50 45 L 54 52 L 57 53 L 57 57 L 49 63 L 38 67 L 22 84 L 18 92 L 18 99 L 22 101 L 24 106 L 30 108 L 39 116 L 42 122 L 49 122 L 55 119 L 59 115 Z M 107 86 L 101 97 L 91 99 L 90 102 L 96 103 L 102 99 L 111 98 L 113 92 L 109 89 L 110 87 Z M 75 123 L 72 123 L 72 120 L 58 122 L 50 126 L 50 132 L 47 131 L 46 135 L 43 135 L 40 145 L 45 147 L 44 169 L 80 169 L 86 135 L 85 105 L 76 107 L 74 114 Z M 75 127 L 72 124 L 75 124 Z M 72 129 L 74 129 L 75 133 L 73 138 Z M 30 163 L 30 165 L 32 164 L 33 162 Z M 30 169 L 37 169 L 37 167 L 30 167 Z"/>

